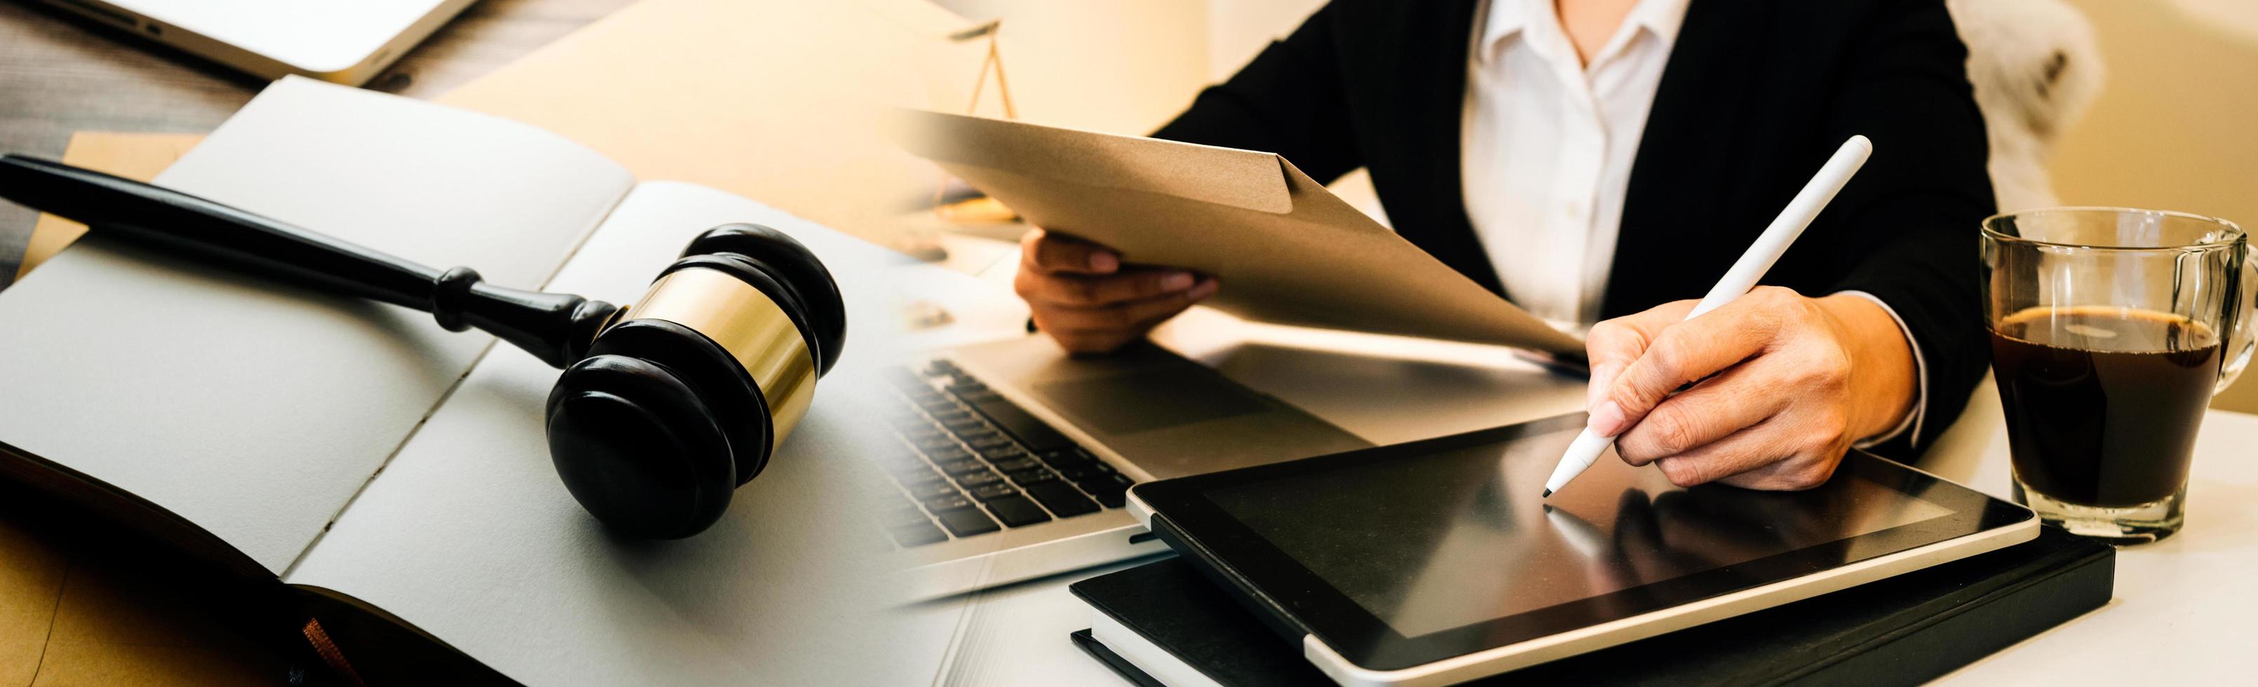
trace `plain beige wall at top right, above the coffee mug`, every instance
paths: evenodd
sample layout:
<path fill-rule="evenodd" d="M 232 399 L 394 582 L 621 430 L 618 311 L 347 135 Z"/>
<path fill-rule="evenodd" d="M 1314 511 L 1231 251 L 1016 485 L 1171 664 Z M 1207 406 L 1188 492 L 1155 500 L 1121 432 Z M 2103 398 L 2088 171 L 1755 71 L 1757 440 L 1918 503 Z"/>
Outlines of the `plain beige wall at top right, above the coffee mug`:
<path fill-rule="evenodd" d="M 2258 228 L 2258 2 L 2068 0 L 2109 81 L 2055 151 L 2071 206 L 2138 206 Z M 2258 411 L 2258 375 L 2217 407 Z"/>

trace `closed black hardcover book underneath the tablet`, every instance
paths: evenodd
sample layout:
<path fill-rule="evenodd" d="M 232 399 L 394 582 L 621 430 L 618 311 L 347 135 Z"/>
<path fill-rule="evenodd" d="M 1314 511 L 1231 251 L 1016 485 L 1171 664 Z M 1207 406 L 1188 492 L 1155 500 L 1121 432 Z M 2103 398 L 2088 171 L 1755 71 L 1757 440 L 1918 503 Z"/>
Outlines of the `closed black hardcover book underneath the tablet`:
<path fill-rule="evenodd" d="M 1535 664 L 1484 682 L 1917 685 L 2109 603 L 2116 549 L 2043 527 L 2037 540 L 1804 601 Z M 1122 628 L 1231 687 L 1323 685 L 1301 646 L 1190 563 L 1165 558 L 1070 588 Z M 1161 685 L 1091 631 L 1075 644 Z"/>

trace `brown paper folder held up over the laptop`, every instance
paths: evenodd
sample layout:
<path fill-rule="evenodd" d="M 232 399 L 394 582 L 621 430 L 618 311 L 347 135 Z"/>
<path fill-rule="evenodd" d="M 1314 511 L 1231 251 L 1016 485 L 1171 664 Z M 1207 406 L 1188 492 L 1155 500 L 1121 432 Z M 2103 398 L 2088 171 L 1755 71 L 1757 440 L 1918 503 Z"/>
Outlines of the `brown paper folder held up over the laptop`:
<path fill-rule="evenodd" d="M 1034 226 L 1215 273 L 1235 316 L 1583 353 L 1276 154 L 926 111 L 887 133 Z"/>

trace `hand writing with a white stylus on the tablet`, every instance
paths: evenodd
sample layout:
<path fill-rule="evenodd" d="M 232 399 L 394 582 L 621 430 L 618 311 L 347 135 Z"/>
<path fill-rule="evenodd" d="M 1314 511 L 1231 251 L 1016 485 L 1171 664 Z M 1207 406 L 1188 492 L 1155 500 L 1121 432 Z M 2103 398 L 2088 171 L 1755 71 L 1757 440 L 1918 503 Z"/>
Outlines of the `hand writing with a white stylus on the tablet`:
<path fill-rule="evenodd" d="M 1757 287 L 1680 321 L 1694 303 L 1610 319 L 1587 337 L 1590 425 L 1621 434 L 1626 463 L 1657 463 L 1678 486 L 1813 488 L 1854 441 L 1913 407 L 1913 348 L 1874 301 Z"/>

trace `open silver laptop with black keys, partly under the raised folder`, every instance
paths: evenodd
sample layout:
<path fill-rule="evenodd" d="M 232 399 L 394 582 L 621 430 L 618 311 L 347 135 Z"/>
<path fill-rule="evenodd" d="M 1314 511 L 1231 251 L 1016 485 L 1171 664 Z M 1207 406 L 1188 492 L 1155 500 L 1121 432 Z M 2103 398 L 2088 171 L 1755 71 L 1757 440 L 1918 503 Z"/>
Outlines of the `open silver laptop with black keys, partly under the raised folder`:
<path fill-rule="evenodd" d="M 881 508 L 910 599 L 1167 551 L 1131 484 L 1371 447 L 1154 344 L 1070 357 L 1048 337 L 960 346 L 887 371 L 901 450 Z"/>

